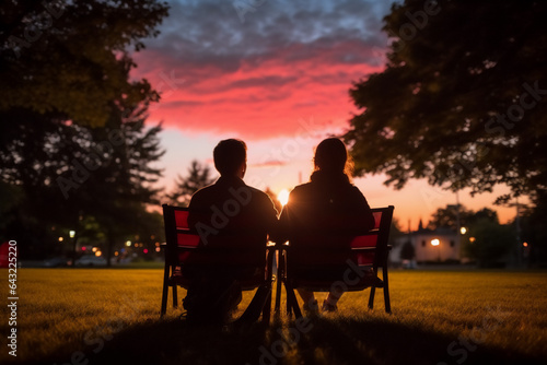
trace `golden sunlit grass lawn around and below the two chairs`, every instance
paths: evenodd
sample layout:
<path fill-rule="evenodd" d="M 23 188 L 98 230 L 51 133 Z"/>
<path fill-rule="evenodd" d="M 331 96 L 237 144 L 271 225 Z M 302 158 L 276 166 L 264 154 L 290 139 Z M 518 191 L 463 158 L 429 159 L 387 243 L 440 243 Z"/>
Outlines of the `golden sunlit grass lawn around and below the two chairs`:
<path fill-rule="evenodd" d="M 547 364 L 547 272 L 392 271 L 392 315 L 381 291 L 369 310 L 365 291 L 345 294 L 337 314 L 240 329 L 189 327 L 171 307 L 160 320 L 158 269 L 18 274 L 16 363 Z"/>

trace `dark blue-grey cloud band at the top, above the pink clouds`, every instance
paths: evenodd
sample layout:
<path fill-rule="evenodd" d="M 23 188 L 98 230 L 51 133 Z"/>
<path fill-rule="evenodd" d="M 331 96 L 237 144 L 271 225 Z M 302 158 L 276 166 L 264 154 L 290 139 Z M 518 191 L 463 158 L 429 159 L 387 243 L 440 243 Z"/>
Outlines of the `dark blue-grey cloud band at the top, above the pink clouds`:
<path fill-rule="evenodd" d="M 148 49 L 168 55 L 172 64 L 213 67 L 234 72 L 242 60 L 259 63 L 284 57 L 294 61 L 317 57 L 340 43 L 354 45 L 330 56 L 334 63 L 368 63 L 363 49 L 385 47 L 382 17 L 389 1 L 171 1 L 162 34 Z M 241 20 L 234 4 L 256 3 Z M 241 13 L 241 11 L 240 11 Z M 287 50 L 283 52 L 283 50 Z"/>

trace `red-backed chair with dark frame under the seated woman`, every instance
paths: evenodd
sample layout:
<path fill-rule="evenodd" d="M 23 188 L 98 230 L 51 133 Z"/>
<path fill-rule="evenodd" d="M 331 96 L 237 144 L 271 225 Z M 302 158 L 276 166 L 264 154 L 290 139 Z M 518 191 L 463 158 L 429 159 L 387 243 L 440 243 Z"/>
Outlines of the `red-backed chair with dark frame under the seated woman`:
<path fill-rule="evenodd" d="M 299 236 L 288 245 L 279 246 L 278 276 L 287 290 L 287 311 L 302 316 L 294 290 L 329 292 L 333 285 L 344 291 L 363 291 L 370 287 L 369 308 L 373 308 L 376 287 L 384 292 L 385 311 L 391 313 L 387 258 L 391 246 L 389 228 L 394 207 L 372 209 L 375 226 L 363 235 L 349 236 L 344 232 L 317 231 L 314 235 Z M 331 217 L 330 226 L 339 226 L 339 216 Z M 318 227 L 328 227 L 319 222 Z M 326 228 L 328 229 L 328 228 Z M 340 271 L 340 269 L 344 269 Z M 382 269 L 382 280 L 377 276 Z M 336 272 L 336 274 L 331 274 Z M 280 307 L 280 285 L 276 296 L 276 310 Z"/>

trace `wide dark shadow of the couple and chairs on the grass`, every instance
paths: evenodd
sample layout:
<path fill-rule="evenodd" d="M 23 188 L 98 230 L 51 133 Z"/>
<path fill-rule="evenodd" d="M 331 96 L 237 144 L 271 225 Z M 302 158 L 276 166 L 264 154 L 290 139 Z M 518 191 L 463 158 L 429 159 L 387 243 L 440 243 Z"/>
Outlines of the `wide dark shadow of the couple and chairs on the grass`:
<path fill-rule="evenodd" d="M 449 345 L 456 341 L 452 351 Z M 147 322 L 114 333 L 85 353 L 27 364 L 545 364 L 521 353 L 385 319 L 274 319 L 270 326 L 199 328 L 184 320 Z M 74 355 L 77 354 L 77 355 Z"/>

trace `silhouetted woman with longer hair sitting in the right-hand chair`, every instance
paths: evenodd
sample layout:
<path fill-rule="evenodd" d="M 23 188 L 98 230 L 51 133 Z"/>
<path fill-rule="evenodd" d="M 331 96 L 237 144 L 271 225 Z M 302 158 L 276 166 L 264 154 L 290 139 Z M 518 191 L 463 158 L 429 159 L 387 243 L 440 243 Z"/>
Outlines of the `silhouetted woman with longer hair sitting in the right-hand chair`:
<path fill-rule="evenodd" d="M 314 166 L 310 182 L 296 186 L 290 193 L 280 216 L 280 240 L 288 239 L 291 245 L 288 270 L 298 278 L 342 280 L 348 269 L 351 236 L 372 229 L 374 217 L 366 199 L 350 181 L 353 165 L 339 139 L 328 138 L 317 145 Z M 326 254 L 322 255 L 325 248 Z M 317 270 L 322 260 L 331 269 Z M 299 289 L 299 294 L 304 301 L 304 310 L 318 310 L 313 292 Z M 323 310 L 336 310 L 341 294 L 331 290 Z"/>

